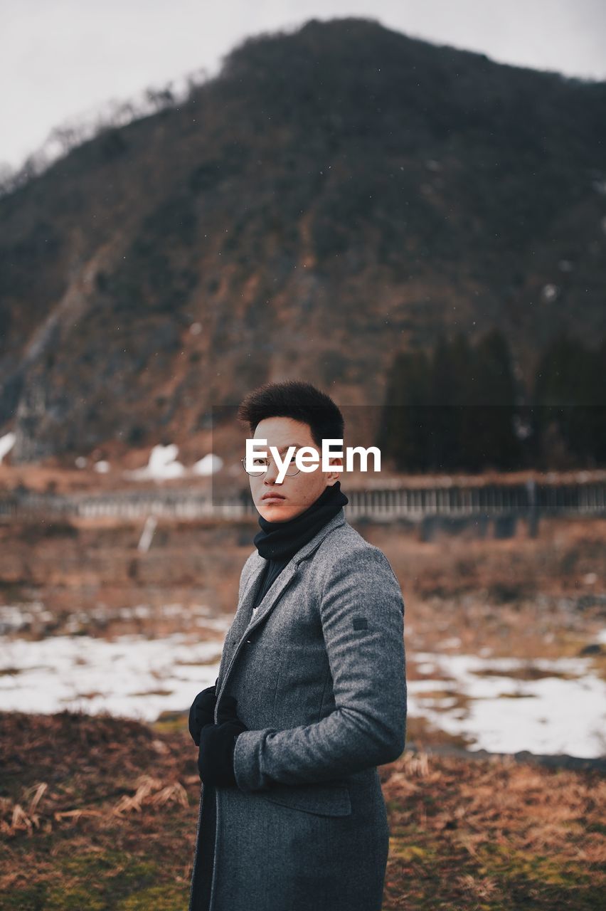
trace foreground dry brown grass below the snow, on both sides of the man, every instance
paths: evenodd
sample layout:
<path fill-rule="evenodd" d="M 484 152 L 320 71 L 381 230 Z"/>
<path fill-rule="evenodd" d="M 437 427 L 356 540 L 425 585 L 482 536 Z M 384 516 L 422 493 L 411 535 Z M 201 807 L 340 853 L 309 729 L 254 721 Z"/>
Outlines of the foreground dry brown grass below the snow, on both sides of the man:
<path fill-rule="evenodd" d="M 185 719 L 9 713 L 0 731 L 3 908 L 187 906 L 199 782 Z M 405 752 L 380 776 L 384 911 L 599 906 L 599 773 Z"/>

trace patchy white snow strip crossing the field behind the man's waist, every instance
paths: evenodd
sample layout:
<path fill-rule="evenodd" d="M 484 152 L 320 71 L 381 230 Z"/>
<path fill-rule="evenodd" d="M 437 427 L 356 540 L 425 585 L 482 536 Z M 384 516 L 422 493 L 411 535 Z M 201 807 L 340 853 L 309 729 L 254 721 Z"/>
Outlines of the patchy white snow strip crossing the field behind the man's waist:
<path fill-rule="evenodd" d="M 5 609 L 5 630 L 18 629 L 24 609 Z M 19 616 L 9 616 L 11 611 Z M 149 611 L 136 605 L 125 608 L 124 617 L 145 618 Z M 182 606 L 166 605 L 164 611 L 178 615 Z M 186 711 L 196 693 L 215 682 L 232 620 L 213 618 L 207 606 L 195 613 L 206 636 L 214 630 L 210 640 L 198 641 L 195 633 L 113 641 L 0 637 L 0 704 L 5 711 L 108 711 L 145 721 L 155 721 L 162 711 Z M 606 630 L 594 641 L 605 643 Z M 529 661 L 439 652 L 409 657 L 427 675 L 408 681 L 409 716 L 470 738 L 472 749 L 604 754 L 606 681 L 589 657 Z M 538 680 L 525 673 L 532 670 L 540 672 Z"/>

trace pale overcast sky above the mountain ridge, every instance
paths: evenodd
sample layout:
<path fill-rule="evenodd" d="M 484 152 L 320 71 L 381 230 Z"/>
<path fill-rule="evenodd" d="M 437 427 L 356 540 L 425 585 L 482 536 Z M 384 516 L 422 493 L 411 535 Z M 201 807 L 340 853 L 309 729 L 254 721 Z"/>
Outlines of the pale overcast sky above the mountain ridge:
<path fill-rule="evenodd" d="M 0 0 L 0 162 L 110 99 L 204 67 L 244 37 L 361 15 L 493 60 L 606 79 L 606 0 Z"/>

